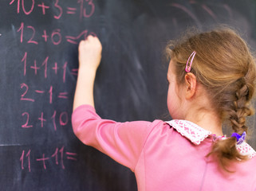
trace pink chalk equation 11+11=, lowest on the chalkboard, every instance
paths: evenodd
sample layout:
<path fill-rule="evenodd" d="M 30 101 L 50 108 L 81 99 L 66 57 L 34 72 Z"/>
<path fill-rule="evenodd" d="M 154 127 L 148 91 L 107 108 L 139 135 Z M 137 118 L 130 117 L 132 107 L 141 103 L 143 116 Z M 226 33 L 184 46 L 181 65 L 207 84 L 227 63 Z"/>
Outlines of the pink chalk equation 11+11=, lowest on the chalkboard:
<path fill-rule="evenodd" d="M 66 161 L 77 161 L 77 153 L 65 151 L 65 146 L 61 146 L 61 148 L 53 148 L 52 153 L 37 153 L 32 155 L 32 150 L 22 150 L 21 157 L 19 161 L 21 162 L 21 169 L 28 170 L 31 172 L 33 170 L 33 166 L 41 165 L 41 170 L 47 170 L 49 164 L 55 164 L 55 166 L 60 166 L 62 170 L 65 170 L 65 162 Z M 35 159 L 31 159 L 35 158 Z M 53 165 L 51 165 L 53 168 Z"/>

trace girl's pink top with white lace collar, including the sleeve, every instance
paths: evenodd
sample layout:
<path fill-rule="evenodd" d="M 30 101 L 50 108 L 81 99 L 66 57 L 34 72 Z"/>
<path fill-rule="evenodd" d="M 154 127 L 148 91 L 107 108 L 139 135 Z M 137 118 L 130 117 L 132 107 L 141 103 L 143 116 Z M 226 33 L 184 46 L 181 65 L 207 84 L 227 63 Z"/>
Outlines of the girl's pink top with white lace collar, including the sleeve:
<path fill-rule="evenodd" d="M 246 162 L 219 169 L 206 158 L 215 135 L 184 120 L 117 123 L 101 119 L 93 107 L 82 105 L 73 112 L 73 131 L 136 175 L 138 190 L 256 190 L 256 152 L 246 142 L 238 146 L 248 154 Z"/>

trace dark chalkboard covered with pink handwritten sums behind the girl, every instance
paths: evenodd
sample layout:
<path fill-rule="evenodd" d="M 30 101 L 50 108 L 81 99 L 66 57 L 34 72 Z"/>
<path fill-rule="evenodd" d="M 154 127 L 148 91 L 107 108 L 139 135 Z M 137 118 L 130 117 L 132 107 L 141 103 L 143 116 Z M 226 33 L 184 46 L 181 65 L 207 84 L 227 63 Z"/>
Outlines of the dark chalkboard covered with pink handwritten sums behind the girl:
<path fill-rule="evenodd" d="M 152 121 L 167 114 L 167 68 L 162 59 L 167 40 L 188 26 L 207 29 L 225 23 L 239 29 L 255 49 L 255 4 L 1 1 L 0 190 L 136 190 L 130 170 L 73 134 L 79 41 L 93 34 L 103 45 L 95 84 L 100 116 Z M 254 137 L 250 144 L 256 148 Z"/>

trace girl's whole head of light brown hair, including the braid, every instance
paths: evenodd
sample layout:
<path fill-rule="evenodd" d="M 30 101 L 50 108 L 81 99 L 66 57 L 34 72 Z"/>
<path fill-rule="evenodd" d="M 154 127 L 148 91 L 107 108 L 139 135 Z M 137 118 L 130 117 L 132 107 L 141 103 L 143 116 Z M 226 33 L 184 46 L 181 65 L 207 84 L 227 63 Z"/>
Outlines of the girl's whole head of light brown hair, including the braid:
<path fill-rule="evenodd" d="M 247 133 L 246 116 L 253 115 L 250 100 L 255 91 L 255 60 L 246 42 L 233 29 L 222 27 L 210 32 L 187 34 L 179 41 L 170 41 L 166 53 L 174 60 L 177 83 L 184 82 L 188 57 L 196 52 L 191 72 L 206 88 L 211 105 L 219 118 L 230 121 L 234 132 Z M 245 161 L 236 149 L 234 137 L 214 142 L 211 154 L 228 170 L 230 162 Z"/>

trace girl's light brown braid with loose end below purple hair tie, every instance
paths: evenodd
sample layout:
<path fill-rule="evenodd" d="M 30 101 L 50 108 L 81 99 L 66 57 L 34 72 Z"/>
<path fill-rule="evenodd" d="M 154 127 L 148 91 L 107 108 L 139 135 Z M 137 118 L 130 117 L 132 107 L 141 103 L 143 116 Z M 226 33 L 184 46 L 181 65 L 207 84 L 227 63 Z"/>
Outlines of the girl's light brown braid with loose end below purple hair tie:
<path fill-rule="evenodd" d="M 222 93 L 225 99 L 223 99 L 224 102 L 221 102 L 223 103 L 223 107 L 220 108 L 223 113 L 226 112 L 226 118 L 230 120 L 234 132 L 241 135 L 244 131 L 247 133 L 248 130 L 248 127 L 246 126 L 246 117 L 253 114 L 251 109 L 247 107 L 249 89 L 243 77 L 230 84 L 230 87 L 231 88 L 226 87 L 226 90 Z M 238 90 L 235 91 L 234 87 L 242 88 L 238 88 Z M 226 99 L 228 101 L 226 101 Z M 234 137 L 218 140 L 213 145 L 211 153 L 207 156 L 214 154 L 219 159 L 220 166 L 227 172 L 231 172 L 228 170 L 230 161 L 245 161 L 247 159 L 247 156 L 238 152 L 236 142 L 237 139 Z"/>

